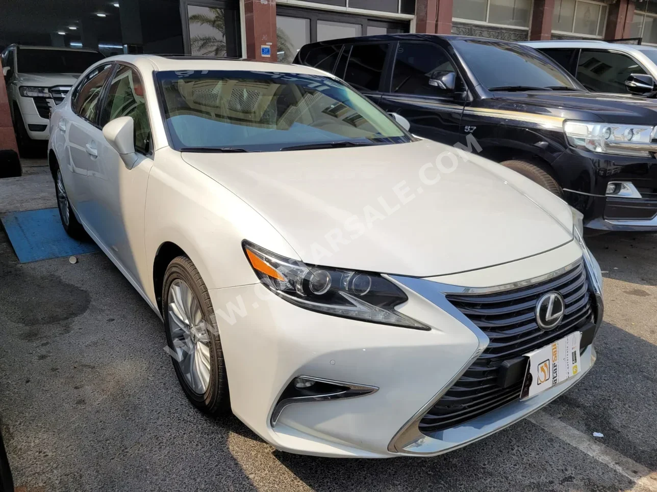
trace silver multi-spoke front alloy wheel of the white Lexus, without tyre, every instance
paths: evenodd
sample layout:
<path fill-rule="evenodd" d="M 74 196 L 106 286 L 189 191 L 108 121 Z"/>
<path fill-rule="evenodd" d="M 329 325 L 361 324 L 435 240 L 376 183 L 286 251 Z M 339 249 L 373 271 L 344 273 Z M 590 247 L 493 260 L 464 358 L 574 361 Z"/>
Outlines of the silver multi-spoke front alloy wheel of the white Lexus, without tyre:
<path fill-rule="evenodd" d="M 210 333 L 198 299 L 181 279 L 171 283 L 168 317 L 175 360 L 185 382 L 196 394 L 210 385 Z"/>

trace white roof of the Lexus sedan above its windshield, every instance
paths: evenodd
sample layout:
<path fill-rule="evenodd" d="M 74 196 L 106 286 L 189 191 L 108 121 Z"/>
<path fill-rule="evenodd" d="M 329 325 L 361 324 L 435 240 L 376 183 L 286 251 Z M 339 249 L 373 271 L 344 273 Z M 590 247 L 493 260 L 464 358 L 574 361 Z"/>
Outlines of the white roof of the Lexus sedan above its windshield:
<path fill-rule="evenodd" d="M 258 62 L 238 58 L 209 58 L 206 56 L 163 56 L 160 54 L 120 54 L 105 58 L 102 62 L 124 61 L 141 70 L 147 70 L 148 65 L 153 72 L 169 70 L 253 70 L 254 72 L 307 73 L 311 75 L 334 75 L 304 65 L 293 65 L 278 62 Z"/>

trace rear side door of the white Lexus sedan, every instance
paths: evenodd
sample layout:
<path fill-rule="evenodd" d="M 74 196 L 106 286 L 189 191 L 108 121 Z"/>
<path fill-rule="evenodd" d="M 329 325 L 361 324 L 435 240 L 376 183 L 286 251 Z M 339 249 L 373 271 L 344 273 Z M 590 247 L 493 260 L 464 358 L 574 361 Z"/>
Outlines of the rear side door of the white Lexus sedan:
<path fill-rule="evenodd" d="M 114 64 L 102 64 L 85 75 L 74 89 L 71 98 L 71 111 L 58 122 L 57 129 L 66 134 L 64 151 L 68 154 L 66 171 L 62 169 L 64 184 L 74 209 L 83 222 L 92 213 L 87 207 L 87 168 L 96 156 L 93 150 L 93 134 L 97 132 L 97 115 L 102 88 L 112 72 Z"/>

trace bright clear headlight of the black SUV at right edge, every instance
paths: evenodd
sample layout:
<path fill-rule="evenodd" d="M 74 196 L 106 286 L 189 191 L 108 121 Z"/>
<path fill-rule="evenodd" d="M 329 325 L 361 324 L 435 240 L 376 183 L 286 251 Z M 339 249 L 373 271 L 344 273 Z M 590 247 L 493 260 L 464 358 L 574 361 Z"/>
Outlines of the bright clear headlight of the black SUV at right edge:
<path fill-rule="evenodd" d="M 602 154 L 650 157 L 657 147 L 652 144 L 654 127 L 566 121 L 564 132 L 573 147 Z"/>

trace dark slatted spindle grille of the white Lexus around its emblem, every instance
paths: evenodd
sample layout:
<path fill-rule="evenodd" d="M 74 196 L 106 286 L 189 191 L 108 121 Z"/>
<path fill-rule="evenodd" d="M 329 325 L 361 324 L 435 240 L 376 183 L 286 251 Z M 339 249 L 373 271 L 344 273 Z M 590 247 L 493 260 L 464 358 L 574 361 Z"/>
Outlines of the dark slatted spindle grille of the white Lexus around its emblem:
<path fill-rule="evenodd" d="M 566 312 L 558 327 L 544 331 L 536 324 L 536 302 L 541 295 L 553 291 L 564 297 Z M 558 277 L 520 289 L 483 295 L 447 295 L 447 300 L 477 325 L 490 342 L 422 417 L 419 428 L 425 434 L 467 422 L 518 400 L 522 381 L 508 388 L 497 384 L 503 361 L 565 337 L 593 318 L 593 300 L 582 262 Z"/>

